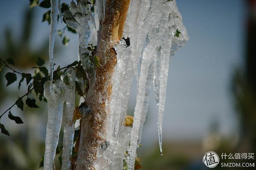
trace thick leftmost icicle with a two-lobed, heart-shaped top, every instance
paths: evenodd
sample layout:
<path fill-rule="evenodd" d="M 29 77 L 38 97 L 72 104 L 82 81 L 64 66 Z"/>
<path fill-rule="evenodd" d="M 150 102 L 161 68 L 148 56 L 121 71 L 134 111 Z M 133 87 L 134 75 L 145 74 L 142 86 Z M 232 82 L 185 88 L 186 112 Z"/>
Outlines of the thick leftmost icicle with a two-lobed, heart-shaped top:
<path fill-rule="evenodd" d="M 48 104 L 48 121 L 46 127 L 44 170 L 52 170 L 52 165 L 58 145 L 61 129 L 63 103 L 66 94 L 65 83 L 57 80 L 54 84 L 50 81 L 44 83 L 44 96 Z"/>

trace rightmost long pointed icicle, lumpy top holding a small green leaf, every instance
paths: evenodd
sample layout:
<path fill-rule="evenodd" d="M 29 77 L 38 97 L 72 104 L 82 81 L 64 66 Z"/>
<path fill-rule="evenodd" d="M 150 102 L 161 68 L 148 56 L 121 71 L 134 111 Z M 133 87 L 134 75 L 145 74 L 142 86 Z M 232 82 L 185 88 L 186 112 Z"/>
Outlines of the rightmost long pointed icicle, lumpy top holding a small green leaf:
<path fill-rule="evenodd" d="M 164 8 L 171 8 L 171 13 L 165 13 L 168 18 L 163 20 L 166 24 L 161 23 L 160 26 L 163 26 L 163 29 L 166 30 L 166 39 L 163 41 L 163 44 L 158 49 L 158 56 L 155 60 L 154 68 L 154 92 L 155 100 L 158 107 L 158 140 L 160 153 L 163 155 L 162 148 L 162 125 L 163 125 L 163 112 L 166 100 L 166 87 L 167 87 L 167 78 L 169 70 L 169 60 L 172 55 L 175 54 L 178 48 L 182 47 L 189 39 L 186 28 L 182 23 L 182 16 L 177 9 L 176 1 L 168 2 L 164 4 Z M 163 10 L 166 11 L 166 10 Z"/>

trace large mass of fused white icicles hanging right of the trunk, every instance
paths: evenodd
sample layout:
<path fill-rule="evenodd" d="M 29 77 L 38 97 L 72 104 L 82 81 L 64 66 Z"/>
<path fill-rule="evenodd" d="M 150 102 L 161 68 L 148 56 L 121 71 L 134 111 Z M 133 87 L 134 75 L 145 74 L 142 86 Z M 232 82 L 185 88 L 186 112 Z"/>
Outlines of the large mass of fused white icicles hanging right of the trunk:
<path fill-rule="evenodd" d="M 149 91 L 151 83 L 154 87 L 154 96 L 158 105 L 158 135 L 160 153 L 162 152 L 162 122 L 166 99 L 166 84 L 169 70 L 169 59 L 178 48 L 188 40 L 186 28 L 183 26 L 182 17 L 177 9 L 175 0 L 141 0 L 132 1 L 130 13 L 126 20 L 127 36 L 131 40 L 131 57 L 125 62 L 125 76 L 122 85 L 121 111 L 114 117 L 120 118 L 116 124 L 122 125 L 127 111 L 128 98 L 134 73 L 137 73 L 137 64 L 141 59 L 140 73 L 137 77 L 137 101 L 134 111 L 134 122 L 131 130 L 130 146 L 128 147 L 128 167 L 134 169 L 136 150 L 140 144 L 143 124 L 148 108 Z M 116 66 L 118 67 L 118 65 Z M 116 78 L 116 77 L 114 77 Z M 116 84 L 114 84 L 115 86 Z M 112 94 L 115 96 L 116 94 Z M 125 134 L 125 128 L 119 129 L 114 158 L 124 153 L 122 145 L 125 143 L 121 136 Z M 130 134 L 130 133 L 129 133 Z M 122 151 L 121 151 L 122 150 Z M 118 161 L 118 160 L 115 160 Z M 122 162 L 113 163 L 113 169 L 120 169 Z"/>

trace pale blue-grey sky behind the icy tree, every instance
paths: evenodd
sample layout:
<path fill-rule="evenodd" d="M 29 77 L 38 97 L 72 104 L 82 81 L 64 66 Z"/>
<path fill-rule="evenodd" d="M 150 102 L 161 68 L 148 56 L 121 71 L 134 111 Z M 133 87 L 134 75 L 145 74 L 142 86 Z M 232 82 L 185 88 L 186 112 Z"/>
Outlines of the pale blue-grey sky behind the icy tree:
<path fill-rule="evenodd" d="M 68 2 L 65 0 L 65 2 Z M 4 29 L 20 32 L 22 14 L 29 0 L 4 1 L 0 6 L 0 46 Z M 230 83 L 233 70 L 243 64 L 246 10 L 243 0 L 177 0 L 190 40 L 170 61 L 163 140 L 201 140 L 212 120 L 219 121 L 223 135 L 236 132 Z M 32 46 L 38 48 L 49 35 L 49 26 L 41 18 L 47 9 L 36 9 Z M 60 24 L 58 28 L 63 28 Z M 77 59 L 78 36 L 68 34 L 70 44 L 61 46 L 55 62 L 67 65 Z M 61 39 L 57 38 L 57 43 Z M 135 83 L 130 110 L 135 105 Z M 157 142 L 157 106 L 150 98 L 143 143 Z M 3 111 L 4 108 L 0 110 Z"/>

